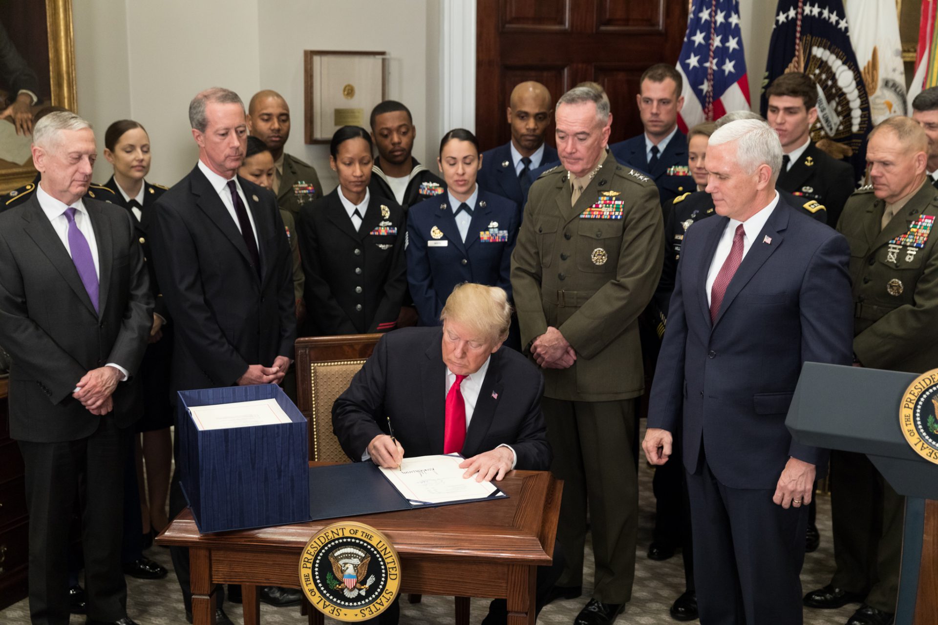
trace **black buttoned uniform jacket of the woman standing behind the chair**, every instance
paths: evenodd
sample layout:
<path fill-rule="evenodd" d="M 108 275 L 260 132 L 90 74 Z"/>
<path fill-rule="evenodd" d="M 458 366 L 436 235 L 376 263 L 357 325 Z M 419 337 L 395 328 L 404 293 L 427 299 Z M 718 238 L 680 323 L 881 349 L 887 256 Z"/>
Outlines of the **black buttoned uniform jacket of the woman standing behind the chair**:
<path fill-rule="evenodd" d="M 356 231 L 340 187 L 300 208 L 299 249 L 306 275 L 308 335 L 393 330 L 407 291 L 404 211 L 370 194 Z"/>

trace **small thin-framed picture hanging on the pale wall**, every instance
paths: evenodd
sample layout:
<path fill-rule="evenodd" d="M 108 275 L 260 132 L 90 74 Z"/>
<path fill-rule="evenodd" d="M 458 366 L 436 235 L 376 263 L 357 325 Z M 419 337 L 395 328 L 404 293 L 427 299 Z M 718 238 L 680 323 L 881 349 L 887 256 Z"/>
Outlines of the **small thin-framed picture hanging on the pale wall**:
<path fill-rule="evenodd" d="M 369 127 L 371 109 L 386 99 L 386 52 L 304 54 L 307 143 L 328 143 L 341 126 Z"/>

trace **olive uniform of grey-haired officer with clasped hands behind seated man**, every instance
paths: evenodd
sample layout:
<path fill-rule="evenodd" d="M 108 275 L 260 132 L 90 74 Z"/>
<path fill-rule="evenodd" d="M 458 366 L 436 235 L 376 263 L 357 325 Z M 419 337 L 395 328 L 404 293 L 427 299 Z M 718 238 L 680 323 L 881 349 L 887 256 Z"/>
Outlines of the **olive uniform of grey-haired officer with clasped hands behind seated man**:
<path fill-rule="evenodd" d="M 596 557 L 594 599 L 626 603 L 635 573 L 638 485 L 635 401 L 643 393 L 638 317 L 658 284 L 664 233 L 658 189 L 607 154 L 573 202 L 569 173 L 531 186 L 511 286 L 529 350 L 548 326 L 576 350 L 543 369 L 553 473 L 565 481 L 557 538 L 561 587 L 582 585 L 586 504 Z"/>

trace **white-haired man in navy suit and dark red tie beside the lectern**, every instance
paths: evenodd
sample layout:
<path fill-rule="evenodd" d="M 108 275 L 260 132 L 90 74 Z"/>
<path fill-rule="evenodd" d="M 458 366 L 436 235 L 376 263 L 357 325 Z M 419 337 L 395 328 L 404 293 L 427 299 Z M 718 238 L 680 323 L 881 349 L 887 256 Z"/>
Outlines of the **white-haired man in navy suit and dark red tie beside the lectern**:
<path fill-rule="evenodd" d="M 852 360 L 849 246 L 781 203 L 781 154 L 757 120 L 710 137 L 719 216 L 684 239 L 648 411 L 649 462 L 682 439 L 704 623 L 802 622 L 804 504 L 827 454 L 785 415 L 805 361 Z"/>

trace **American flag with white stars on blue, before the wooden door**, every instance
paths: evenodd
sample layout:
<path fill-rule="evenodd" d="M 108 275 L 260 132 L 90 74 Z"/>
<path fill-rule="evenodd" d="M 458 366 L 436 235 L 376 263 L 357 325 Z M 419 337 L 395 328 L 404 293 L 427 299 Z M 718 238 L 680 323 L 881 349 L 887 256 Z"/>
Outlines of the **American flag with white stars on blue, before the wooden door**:
<path fill-rule="evenodd" d="M 693 0 L 677 60 L 684 77 L 682 132 L 727 112 L 749 111 L 749 79 L 738 0 Z"/>

